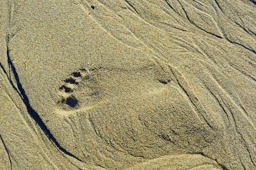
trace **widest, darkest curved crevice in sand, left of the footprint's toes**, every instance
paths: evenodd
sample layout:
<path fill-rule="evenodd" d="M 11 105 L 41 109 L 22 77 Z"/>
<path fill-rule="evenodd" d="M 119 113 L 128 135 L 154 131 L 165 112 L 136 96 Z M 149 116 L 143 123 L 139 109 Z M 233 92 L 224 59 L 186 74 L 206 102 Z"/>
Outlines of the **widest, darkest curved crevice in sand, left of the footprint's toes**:
<path fill-rule="evenodd" d="M 8 38 L 8 40 L 9 40 L 9 38 Z M 52 135 L 50 130 L 44 124 L 44 122 L 42 121 L 42 119 L 40 118 L 38 113 L 30 106 L 29 99 L 26 96 L 26 93 L 25 93 L 25 91 L 24 91 L 24 89 L 23 89 L 23 87 L 22 87 L 22 85 L 20 83 L 20 78 L 19 78 L 19 76 L 17 74 L 16 68 L 14 67 L 14 65 L 12 63 L 12 60 L 10 59 L 8 43 L 7 43 L 6 55 L 7 55 L 7 58 L 8 58 L 8 64 L 10 65 L 12 73 L 14 74 L 14 77 L 15 77 L 18 89 L 15 88 L 15 86 L 14 86 L 14 84 L 13 84 L 11 79 L 9 79 L 10 83 L 12 84 L 12 87 L 15 89 L 15 91 L 17 91 L 17 93 L 20 95 L 21 99 L 23 100 L 29 115 L 32 117 L 32 119 L 35 120 L 36 124 L 39 125 L 39 127 L 44 131 L 44 133 L 47 135 L 47 137 L 50 139 L 50 141 L 52 141 L 55 144 L 55 146 L 58 147 L 59 150 L 61 150 L 63 153 L 67 154 L 68 156 L 71 156 L 71 157 L 73 157 L 73 158 L 75 158 L 75 159 L 77 159 L 79 161 L 82 161 L 81 159 L 79 159 L 78 157 L 74 156 L 72 153 L 68 152 L 63 147 L 61 147 L 61 145 L 57 142 L 57 140 Z"/>

